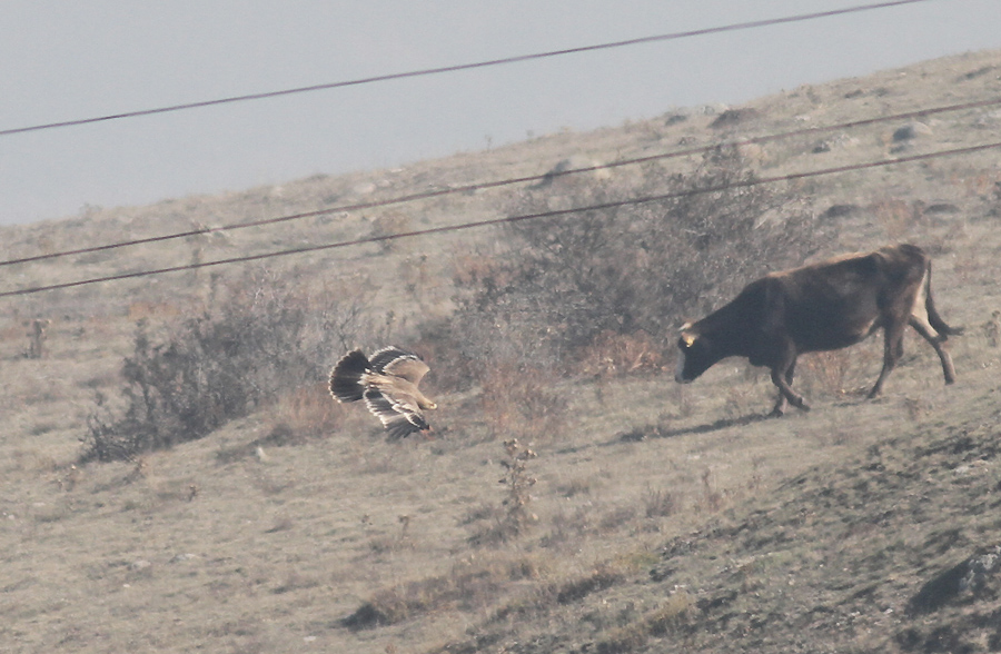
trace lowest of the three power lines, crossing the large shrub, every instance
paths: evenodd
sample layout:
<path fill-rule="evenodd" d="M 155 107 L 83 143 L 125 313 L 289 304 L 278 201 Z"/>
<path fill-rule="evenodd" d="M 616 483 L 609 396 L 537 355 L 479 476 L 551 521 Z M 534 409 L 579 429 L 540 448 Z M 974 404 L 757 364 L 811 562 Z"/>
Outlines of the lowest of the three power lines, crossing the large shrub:
<path fill-rule="evenodd" d="M 333 242 L 333 244 L 325 244 L 325 245 L 318 245 L 318 246 L 308 246 L 308 247 L 293 248 L 293 249 L 287 249 L 287 250 L 278 250 L 278 251 L 272 251 L 272 252 L 264 252 L 264 254 L 259 254 L 259 255 L 232 257 L 229 259 L 218 259 L 218 260 L 214 260 L 214 261 L 204 261 L 200 264 L 172 266 L 169 268 L 159 268 L 156 270 L 141 270 L 141 271 L 137 271 L 137 272 L 125 272 L 121 275 L 110 275 L 107 277 L 95 277 L 95 278 L 90 278 L 90 279 L 80 279 L 77 281 L 52 284 L 49 286 L 38 286 L 38 287 L 33 287 L 33 288 L 23 288 L 23 289 L 19 289 L 19 290 L 8 290 L 8 291 L 0 293 L 0 298 L 20 296 L 20 295 L 31 295 L 31 294 L 42 293 L 46 290 L 75 288 L 78 286 L 86 286 L 86 285 L 90 285 L 90 284 L 100 284 L 100 283 L 106 283 L 106 281 L 119 281 L 122 279 L 150 277 L 153 275 L 163 275 L 167 272 L 178 272 L 178 271 L 182 271 L 182 270 L 194 270 L 196 268 L 208 268 L 208 267 L 212 267 L 212 266 L 222 266 L 222 265 L 227 265 L 227 264 L 259 261 L 262 259 L 270 259 L 270 258 L 275 258 L 275 257 L 303 255 L 303 254 L 309 254 L 309 252 L 317 252 L 317 251 L 321 251 L 321 250 L 333 250 L 333 249 L 353 247 L 353 246 L 365 245 L 365 244 L 375 244 L 375 242 L 384 242 L 384 241 L 389 241 L 389 240 L 398 240 L 402 238 L 413 238 L 413 237 L 417 237 L 417 236 L 447 234 L 447 232 L 453 232 L 453 231 L 462 231 L 462 230 L 466 230 L 466 229 L 489 227 L 489 226 L 496 226 L 496 225 L 508 225 L 508 224 L 522 222 L 525 220 L 534 220 L 534 219 L 539 219 L 539 218 L 553 218 L 556 216 L 582 214 L 584 211 L 594 211 L 594 210 L 602 210 L 602 209 L 612 209 L 612 208 L 616 208 L 616 207 L 643 205 L 643 204 L 648 204 L 648 202 L 656 202 L 656 201 L 663 201 L 663 200 L 668 200 L 668 199 L 674 199 L 674 198 L 694 196 L 694 195 L 698 195 L 698 194 L 717 192 L 721 190 L 727 190 L 727 189 L 732 189 L 732 188 L 747 188 L 747 187 L 753 187 L 753 186 L 760 186 L 763 184 L 774 184 L 774 182 L 779 182 L 779 181 L 795 181 L 795 180 L 800 180 L 800 179 L 821 177 L 824 175 L 835 175 L 835 174 L 840 174 L 840 172 L 851 172 L 851 171 L 856 171 L 856 170 L 866 170 L 866 169 L 872 169 L 872 168 L 879 168 L 879 167 L 883 167 L 883 166 L 893 166 L 896 164 L 910 164 L 910 162 L 914 162 L 914 161 L 926 161 L 930 159 L 938 159 L 941 157 L 970 155 L 973 152 L 980 152 L 980 151 L 995 149 L 995 148 L 1001 148 L 1001 141 L 993 142 L 993 143 L 982 143 L 979 146 L 969 146 L 965 148 L 954 148 L 951 150 L 940 150 L 938 152 L 928 152 L 924 155 L 913 155 L 910 157 L 900 157 L 896 159 L 881 159 L 878 161 L 870 161 L 866 164 L 850 164 L 846 166 L 839 166 L 836 168 L 824 168 L 821 170 L 811 170 L 811 171 L 806 171 L 806 172 L 793 172 L 790 175 L 781 175 L 781 176 L 775 176 L 775 177 L 763 177 L 763 178 L 759 178 L 759 179 L 740 181 L 736 184 L 718 185 L 715 187 L 690 189 L 690 190 L 685 190 L 685 191 L 675 191 L 675 192 L 671 192 L 671 194 L 646 196 L 646 197 L 641 197 L 641 198 L 631 198 L 627 200 L 603 202 L 599 205 L 591 205 L 587 207 L 576 207 L 576 208 L 572 208 L 572 209 L 558 209 L 558 210 L 552 210 L 552 211 L 542 211 L 538 214 L 527 214 L 527 215 L 523 215 L 523 216 L 508 216 L 505 218 L 492 218 L 488 220 L 479 220 L 479 221 L 475 221 L 475 222 L 463 222 L 459 225 L 449 225 L 449 226 L 445 226 L 445 227 L 432 227 L 428 229 L 417 229 L 417 230 L 413 230 L 413 231 L 404 231 L 404 232 L 399 232 L 399 234 L 390 234 L 390 235 L 385 235 L 385 236 L 373 236 L 373 237 L 367 237 L 367 238 L 344 240 L 344 241 L 337 241 L 337 242 Z"/>

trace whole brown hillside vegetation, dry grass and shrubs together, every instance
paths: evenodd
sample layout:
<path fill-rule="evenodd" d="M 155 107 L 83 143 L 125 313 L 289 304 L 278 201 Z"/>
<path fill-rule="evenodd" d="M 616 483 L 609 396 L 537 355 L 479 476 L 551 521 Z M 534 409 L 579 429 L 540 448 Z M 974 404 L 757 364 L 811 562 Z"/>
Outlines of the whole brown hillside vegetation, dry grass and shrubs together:
<path fill-rule="evenodd" d="M 912 110 L 944 103 L 947 87 L 950 102 L 997 95 L 992 76 L 964 75 L 984 67 L 998 70 L 998 53 L 794 90 L 725 119 L 672 115 L 373 179 L 311 178 L 281 197 L 256 189 L 89 212 L 11 228 L 4 242 L 30 255 L 38 242 L 143 236 L 147 224 L 305 212 L 363 182 L 405 195 L 544 171 L 571 152 L 612 161 L 817 116 Z M 0 324 L 0 642 L 13 652 L 997 650 L 995 156 L 717 189 L 762 167 L 881 158 L 899 127 L 858 130 L 851 147 L 722 148 L 385 218 L 241 230 L 205 239 L 198 256 L 671 200 L 12 299 Z M 985 110 L 942 116 L 918 138 L 957 147 L 999 131 Z M 879 366 L 869 343 L 804 358 L 814 410 L 765 420 L 766 377 L 721 364 L 681 388 L 665 370 L 674 329 L 749 279 L 891 236 L 929 246 L 936 303 L 969 327 L 950 339 L 954 386 L 943 389 L 922 360 L 933 355 L 909 346 L 882 400 L 854 396 Z M 191 244 L 141 255 L 165 267 L 191 257 Z M 133 264 L 122 252 L 18 275 L 41 284 Z M 29 358 L 24 326 L 38 316 L 51 324 L 43 356 Z M 364 408 L 323 388 L 341 354 L 390 343 L 432 366 L 436 438 L 387 444 Z"/>

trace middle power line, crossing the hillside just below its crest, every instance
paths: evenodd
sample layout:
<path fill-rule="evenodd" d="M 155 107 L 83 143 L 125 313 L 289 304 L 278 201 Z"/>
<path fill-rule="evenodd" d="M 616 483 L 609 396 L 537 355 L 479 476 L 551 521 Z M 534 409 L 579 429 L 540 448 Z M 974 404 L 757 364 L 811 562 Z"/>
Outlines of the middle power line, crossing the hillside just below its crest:
<path fill-rule="evenodd" d="M 437 198 L 437 197 L 442 197 L 442 196 L 449 196 L 449 195 L 454 195 L 454 194 L 467 194 L 467 192 L 474 192 L 474 191 L 479 191 L 479 190 L 485 190 L 485 189 L 499 188 L 499 187 L 504 187 L 504 186 L 512 186 L 512 185 L 516 185 L 516 184 L 542 181 L 544 179 L 552 179 L 555 177 L 578 175 L 582 172 L 593 172 L 595 170 L 603 169 L 603 168 L 617 168 L 617 167 L 622 167 L 622 166 L 634 166 L 637 164 L 648 164 L 652 161 L 664 160 L 664 159 L 688 157 L 688 156 L 693 156 L 693 155 L 700 155 L 700 153 L 707 152 L 707 151 L 712 150 L 713 148 L 716 148 L 721 145 L 737 146 L 737 147 L 746 146 L 746 145 L 760 145 L 760 143 L 766 143 L 766 142 L 776 141 L 776 140 L 786 139 L 786 138 L 813 136 L 813 135 L 824 133 L 824 132 L 829 132 L 829 131 L 854 129 L 854 128 L 859 128 L 859 127 L 865 127 L 869 125 L 878 125 L 880 122 L 891 122 L 891 121 L 896 121 L 896 120 L 912 120 L 915 118 L 934 116 L 938 113 L 945 113 L 945 112 L 951 112 L 951 111 L 963 111 L 963 110 L 969 110 L 969 109 L 979 109 L 979 108 L 991 107 L 991 106 L 995 106 L 995 105 L 1001 105 L 1001 98 L 978 100 L 974 102 L 963 102 L 960 105 L 949 105 L 949 106 L 943 106 L 943 107 L 932 107 L 932 108 L 928 108 L 928 109 L 918 109 L 914 111 L 905 111 L 903 113 L 894 113 L 891 116 L 863 118 L 860 120 L 852 120 L 849 122 L 841 122 L 838 125 L 805 127 L 805 128 L 786 131 L 786 132 L 774 133 L 774 135 L 766 135 L 766 136 L 761 136 L 761 137 L 750 137 L 750 138 L 739 139 L 739 140 L 734 140 L 734 141 L 713 143 L 710 146 L 700 146 L 697 148 L 675 150 L 672 152 L 662 152 L 658 155 L 648 155 L 645 157 L 637 157 L 637 158 L 632 158 L 632 159 L 621 159 L 618 161 L 603 164 L 599 166 L 588 166 L 585 168 L 573 168 L 573 169 L 567 169 L 567 170 L 561 170 L 561 171 L 549 171 L 549 172 L 545 172 L 543 175 L 533 175 L 533 176 L 526 176 L 526 177 L 516 177 L 516 178 L 500 179 L 500 180 L 494 180 L 494 181 L 470 184 L 470 185 L 465 185 L 465 186 L 452 187 L 452 188 L 447 188 L 447 189 L 424 191 L 424 192 L 419 192 L 419 194 L 410 194 L 410 195 L 406 195 L 406 196 L 388 198 L 385 200 L 374 200 L 374 201 L 369 201 L 369 202 L 359 202 L 359 204 L 355 204 L 355 205 L 340 205 L 337 207 L 329 207 L 327 209 L 317 209 L 315 211 L 305 211 L 305 212 L 300 212 L 300 214 L 278 216 L 278 217 L 274 217 L 274 218 L 262 218 L 260 220 L 251 220 L 248 222 L 237 222 L 234 225 L 224 225 L 224 226 L 219 226 L 219 227 L 204 227 L 204 228 L 198 228 L 198 229 L 190 229 L 187 231 L 179 231 L 179 232 L 166 234 L 166 235 L 160 235 L 160 236 L 151 236 L 148 238 L 137 238 L 137 239 L 118 241 L 118 242 L 112 242 L 112 244 L 105 244 L 105 245 L 99 245 L 99 246 L 90 246 L 90 247 L 77 248 L 77 249 L 71 249 L 71 250 L 62 250 L 62 251 L 58 251 L 58 252 L 49 252 L 49 254 L 44 254 L 44 255 L 33 255 L 30 257 L 20 257 L 17 259 L 8 259 L 8 260 L 0 261 L 0 267 L 12 266 L 14 264 L 36 262 L 36 261 L 42 261 L 42 260 L 47 260 L 47 259 L 54 259 L 54 258 L 59 258 L 59 257 L 67 257 L 67 256 L 73 256 L 73 255 L 92 254 L 92 252 L 118 249 L 118 248 L 123 248 L 123 247 L 129 247 L 129 246 L 149 245 L 149 244 L 153 244 L 153 242 L 162 242 L 162 241 L 174 240 L 174 239 L 178 239 L 178 238 L 187 238 L 187 237 L 192 237 L 192 236 L 234 231 L 237 229 L 246 229 L 249 227 L 264 227 L 264 226 L 268 226 L 268 225 L 277 225 L 280 222 L 288 222 L 291 220 L 315 218 L 317 216 L 325 216 L 328 214 L 374 209 L 374 208 L 386 207 L 386 206 L 390 206 L 390 205 L 400 205 L 400 204 L 414 202 L 414 201 L 419 201 L 419 200 L 427 200 L 427 199 Z M 0 297 L 2 297 L 2 296 L 0 296 Z"/>

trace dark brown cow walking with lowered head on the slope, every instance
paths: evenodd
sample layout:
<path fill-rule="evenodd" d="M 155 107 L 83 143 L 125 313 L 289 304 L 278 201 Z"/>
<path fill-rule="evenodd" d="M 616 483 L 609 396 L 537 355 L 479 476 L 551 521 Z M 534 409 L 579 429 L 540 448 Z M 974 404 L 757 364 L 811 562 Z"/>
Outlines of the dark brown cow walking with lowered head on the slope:
<path fill-rule="evenodd" d="M 780 392 L 772 415 L 781 416 L 786 402 L 807 410 L 791 387 L 796 357 L 854 345 L 882 328 L 883 369 L 869 393 L 875 397 L 903 355 L 908 325 L 935 348 L 952 384 L 955 368 L 942 343 L 962 329 L 935 311 L 928 255 L 912 245 L 844 255 L 752 281 L 726 306 L 682 327 L 675 379 L 686 384 L 721 359 L 747 357 L 772 370 Z"/>

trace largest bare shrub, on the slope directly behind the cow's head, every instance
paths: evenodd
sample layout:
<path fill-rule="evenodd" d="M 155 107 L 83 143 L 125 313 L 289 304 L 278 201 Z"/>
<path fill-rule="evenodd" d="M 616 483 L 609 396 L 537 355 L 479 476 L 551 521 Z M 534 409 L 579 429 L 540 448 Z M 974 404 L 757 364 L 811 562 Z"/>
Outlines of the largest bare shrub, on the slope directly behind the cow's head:
<path fill-rule="evenodd" d="M 737 149 L 720 148 L 686 176 L 651 165 L 525 189 L 509 215 L 601 208 L 507 225 L 496 239 L 505 249 L 457 265 L 457 310 L 443 334 L 476 361 L 562 371 L 657 365 L 681 316 L 830 240 L 809 211 L 754 181 Z"/>

